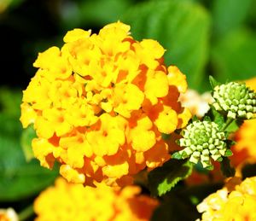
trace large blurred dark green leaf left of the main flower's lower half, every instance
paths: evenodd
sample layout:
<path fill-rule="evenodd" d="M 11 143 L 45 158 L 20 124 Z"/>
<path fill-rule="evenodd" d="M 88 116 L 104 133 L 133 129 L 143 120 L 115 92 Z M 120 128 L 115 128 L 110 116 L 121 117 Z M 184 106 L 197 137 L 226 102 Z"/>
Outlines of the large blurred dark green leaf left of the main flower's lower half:
<path fill-rule="evenodd" d="M 0 113 L 0 131 L 0 201 L 18 201 L 36 195 L 54 182 L 57 170 L 43 168 L 38 160 L 26 162 L 17 117 Z"/>

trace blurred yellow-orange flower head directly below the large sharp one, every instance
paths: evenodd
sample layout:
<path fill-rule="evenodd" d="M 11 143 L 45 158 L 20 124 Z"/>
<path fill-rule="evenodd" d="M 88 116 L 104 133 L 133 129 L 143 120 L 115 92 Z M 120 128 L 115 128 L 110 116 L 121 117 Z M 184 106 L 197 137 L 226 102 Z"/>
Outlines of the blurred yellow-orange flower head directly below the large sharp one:
<path fill-rule="evenodd" d="M 146 221 L 158 201 L 140 195 L 137 186 L 114 190 L 104 184 L 98 188 L 67 183 L 63 178 L 44 190 L 34 201 L 36 221 Z"/>

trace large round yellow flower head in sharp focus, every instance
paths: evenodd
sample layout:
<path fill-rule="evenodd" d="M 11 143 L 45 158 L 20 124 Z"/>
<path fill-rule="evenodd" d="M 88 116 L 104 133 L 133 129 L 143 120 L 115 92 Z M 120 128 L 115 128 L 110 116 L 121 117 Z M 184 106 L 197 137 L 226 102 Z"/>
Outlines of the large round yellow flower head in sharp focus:
<path fill-rule="evenodd" d="M 61 163 L 68 181 L 122 186 L 170 158 L 161 133 L 187 124 L 178 102 L 187 88 L 177 67 L 163 63 L 165 49 L 130 36 L 116 22 L 99 34 L 74 29 L 61 49 L 39 53 L 38 72 L 23 92 L 20 120 L 33 124 L 32 148 L 41 165 Z"/>

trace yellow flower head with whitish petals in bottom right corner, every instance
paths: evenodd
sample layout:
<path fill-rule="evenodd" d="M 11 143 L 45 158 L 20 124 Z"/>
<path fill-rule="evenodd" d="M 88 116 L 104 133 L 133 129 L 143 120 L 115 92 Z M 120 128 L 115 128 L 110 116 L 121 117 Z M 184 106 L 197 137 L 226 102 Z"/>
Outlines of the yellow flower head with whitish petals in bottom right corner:
<path fill-rule="evenodd" d="M 256 177 L 237 183 L 237 177 L 232 178 L 223 189 L 207 196 L 197 206 L 203 212 L 201 220 L 256 220 Z"/>

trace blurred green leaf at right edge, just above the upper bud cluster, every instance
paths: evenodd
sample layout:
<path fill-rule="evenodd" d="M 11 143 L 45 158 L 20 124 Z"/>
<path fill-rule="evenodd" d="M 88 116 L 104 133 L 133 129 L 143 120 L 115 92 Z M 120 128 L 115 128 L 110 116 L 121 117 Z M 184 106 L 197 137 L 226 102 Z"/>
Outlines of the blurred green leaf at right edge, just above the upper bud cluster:
<path fill-rule="evenodd" d="M 216 78 L 245 80 L 255 77 L 256 33 L 245 29 L 230 32 L 212 48 L 212 64 Z"/>

